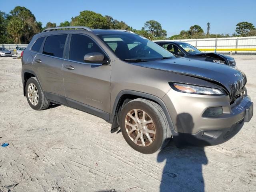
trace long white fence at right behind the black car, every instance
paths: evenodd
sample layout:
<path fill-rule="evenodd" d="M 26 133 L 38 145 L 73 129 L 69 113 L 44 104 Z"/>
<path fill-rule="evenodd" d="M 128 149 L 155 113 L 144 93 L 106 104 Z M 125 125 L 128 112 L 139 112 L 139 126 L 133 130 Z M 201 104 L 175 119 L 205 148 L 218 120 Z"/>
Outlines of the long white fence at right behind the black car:
<path fill-rule="evenodd" d="M 256 36 L 252 37 L 228 37 L 228 38 L 207 38 L 207 39 L 181 39 L 181 40 L 164 40 L 164 41 L 182 41 L 187 42 L 194 47 L 204 49 L 256 49 Z M 208 52 L 208 51 L 206 51 Z M 212 51 L 210 51 L 212 52 Z M 229 51 L 218 51 L 229 53 Z M 239 51 L 237 53 L 256 54 L 256 51 Z"/>

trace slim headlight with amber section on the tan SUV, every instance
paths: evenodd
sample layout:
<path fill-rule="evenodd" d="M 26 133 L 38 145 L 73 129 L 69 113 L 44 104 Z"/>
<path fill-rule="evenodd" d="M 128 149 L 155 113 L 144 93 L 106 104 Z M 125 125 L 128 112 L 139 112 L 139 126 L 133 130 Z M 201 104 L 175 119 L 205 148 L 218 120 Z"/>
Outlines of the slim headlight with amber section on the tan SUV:
<path fill-rule="evenodd" d="M 224 95 L 224 93 L 216 88 L 202 87 L 190 84 L 181 84 L 181 83 L 170 83 L 170 86 L 178 91 L 183 93 L 192 93 L 192 94 L 202 94 L 202 95 Z"/>

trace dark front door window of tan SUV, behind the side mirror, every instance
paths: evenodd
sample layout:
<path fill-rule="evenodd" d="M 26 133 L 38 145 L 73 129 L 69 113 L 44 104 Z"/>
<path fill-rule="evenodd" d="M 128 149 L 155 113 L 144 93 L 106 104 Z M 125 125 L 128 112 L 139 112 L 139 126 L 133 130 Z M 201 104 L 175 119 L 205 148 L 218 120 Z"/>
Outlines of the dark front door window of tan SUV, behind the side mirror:
<path fill-rule="evenodd" d="M 100 47 L 88 36 L 72 34 L 69 48 L 70 60 L 84 62 L 84 56 L 93 52 L 100 52 L 105 55 Z"/>

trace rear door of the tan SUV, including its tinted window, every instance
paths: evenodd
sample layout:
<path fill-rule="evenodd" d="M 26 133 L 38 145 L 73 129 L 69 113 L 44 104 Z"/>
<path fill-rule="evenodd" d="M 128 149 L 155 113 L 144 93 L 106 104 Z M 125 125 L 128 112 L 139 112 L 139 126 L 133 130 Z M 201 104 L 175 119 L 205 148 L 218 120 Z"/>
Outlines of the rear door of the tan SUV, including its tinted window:
<path fill-rule="evenodd" d="M 45 92 L 46 98 L 65 104 L 62 76 L 64 46 L 67 34 L 47 36 L 44 46 L 34 58 L 32 68 Z"/>

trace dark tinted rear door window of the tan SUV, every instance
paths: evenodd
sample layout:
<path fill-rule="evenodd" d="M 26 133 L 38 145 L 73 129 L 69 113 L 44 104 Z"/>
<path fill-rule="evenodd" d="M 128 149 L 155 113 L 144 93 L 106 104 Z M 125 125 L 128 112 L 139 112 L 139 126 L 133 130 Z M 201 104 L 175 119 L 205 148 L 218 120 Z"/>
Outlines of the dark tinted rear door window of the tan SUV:
<path fill-rule="evenodd" d="M 44 43 L 43 54 L 62 58 L 66 38 L 67 35 L 48 36 Z"/>

